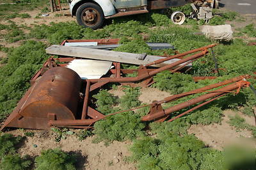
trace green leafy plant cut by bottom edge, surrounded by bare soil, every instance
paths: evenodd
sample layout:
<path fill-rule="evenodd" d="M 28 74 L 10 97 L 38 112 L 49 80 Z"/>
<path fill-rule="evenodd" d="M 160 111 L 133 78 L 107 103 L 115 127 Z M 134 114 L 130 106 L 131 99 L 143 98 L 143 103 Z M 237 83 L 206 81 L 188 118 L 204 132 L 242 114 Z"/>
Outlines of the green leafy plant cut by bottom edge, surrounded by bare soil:
<path fill-rule="evenodd" d="M 35 158 L 36 170 L 71 170 L 76 169 L 74 166 L 75 163 L 76 157 L 74 155 L 69 155 L 60 149 L 43 150 L 41 155 Z"/>

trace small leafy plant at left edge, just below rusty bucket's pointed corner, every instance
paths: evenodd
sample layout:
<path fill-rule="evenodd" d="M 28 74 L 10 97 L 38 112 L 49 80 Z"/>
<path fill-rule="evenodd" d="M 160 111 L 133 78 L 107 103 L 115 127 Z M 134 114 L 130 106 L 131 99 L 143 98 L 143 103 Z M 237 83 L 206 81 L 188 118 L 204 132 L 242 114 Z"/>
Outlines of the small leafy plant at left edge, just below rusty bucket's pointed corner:
<path fill-rule="evenodd" d="M 17 149 L 17 144 L 20 143 L 22 137 L 15 137 L 12 134 L 2 134 L 0 136 L 0 158 L 3 158 L 4 155 L 13 154 Z"/>

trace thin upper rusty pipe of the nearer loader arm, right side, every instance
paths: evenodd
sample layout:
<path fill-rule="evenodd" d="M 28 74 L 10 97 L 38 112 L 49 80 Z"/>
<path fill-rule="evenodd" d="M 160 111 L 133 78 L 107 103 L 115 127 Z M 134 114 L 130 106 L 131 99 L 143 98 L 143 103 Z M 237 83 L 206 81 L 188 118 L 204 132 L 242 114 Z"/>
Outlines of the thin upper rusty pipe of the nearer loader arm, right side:
<path fill-rule="evenodd" d="M 164 100 L 161 100 L 159 102 L 163 103 L 163 102 L 170 102 L 172 100 L 177 100 L 179 98 L 186 97 L 186 96 L 191 95 L 193 93 L 198 93 L 200 91 L 207 91 L 209 89 L 214 89 L 214 88 L 218 88 L 220 86 L 225 86 L 225 85 L 230 84 L 232 82 L 241 81 L 241 80 L 243 80 L 246 77 L 250 77 L 250 76 L 249 75 L 240 75 L 238 77 L 234 77 L 232 79 L 228 79 L 227 81 L 218 82 L 218 83 L 215 83 L 215 84 L 210 84 L 209 86 L 205 86 L 203 88 L 198 88 L 198 89 L 194 89 L 192 91 L 188 91 L 186 93 L 181 93 L 181 94 L 178 94 L 178 95 L 173 95 L 171 97 L 166 97 L 166 98 L 164 98 Z"/>

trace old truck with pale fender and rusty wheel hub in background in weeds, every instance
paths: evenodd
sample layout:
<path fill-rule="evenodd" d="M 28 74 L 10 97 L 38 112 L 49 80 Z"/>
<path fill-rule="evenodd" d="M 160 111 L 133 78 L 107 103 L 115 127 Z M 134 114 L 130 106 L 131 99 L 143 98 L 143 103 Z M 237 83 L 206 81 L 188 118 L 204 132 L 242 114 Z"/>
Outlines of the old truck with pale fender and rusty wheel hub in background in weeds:
<path fill-rule="evenodd" d="M 79 25 L 98 29 L 105 19 L 148 13 L 150 10 L 160 10 L 174 6 L 184 6 L 188 3 L 204 4 L 213 6 L 217 0 L 70 0 L 70 12 L 76 16 Z M 208 5 L 207 5 L 208 4 Z M 193 6 L 194 10 L 200 10 L 199 6 Z M 212 8 L 211 8 L 212 9 Z M 207 11 L 207 10 L 206 10 Z M 201 15 L 205 15 L 202 13 Z M 176 12 L 172 20 L 181 23 L 184 14 Z"/>

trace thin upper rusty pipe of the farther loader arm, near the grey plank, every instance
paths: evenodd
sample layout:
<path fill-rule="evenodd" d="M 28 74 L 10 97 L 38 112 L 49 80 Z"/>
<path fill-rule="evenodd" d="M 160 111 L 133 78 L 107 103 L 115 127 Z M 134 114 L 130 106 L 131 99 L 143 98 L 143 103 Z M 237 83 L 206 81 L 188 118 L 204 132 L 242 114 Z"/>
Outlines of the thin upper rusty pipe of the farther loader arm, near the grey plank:
<path fill-rule="evenodd" d="M 200 50 L 206 50 L 206 49 L 215 47 L 216 45 L 217 45 L 216 43 L 212 43 L 211 45 L 207 45 L 207 46 L 205 46 L 205 47 L 200 47 L 200 48 L 198 48 L 198 49 L 189 50 L 189 51 L 187 51 L 187 52 L 183 52 L 183 53 L 180 53 L 180 54 L 176 54 L 176 55 L 170 56 L 170 57 L 168 57 L 168 58 L 157 59 L 156 61 L 153 61 L 152 63 L 148 63 L 148 64 L 145 65 L 145 66 L 157 65 L 157 64 L 163 63 L 164 61 L 168 61 L 168 60 L 170 60 L 170 59 L 179 58 L 179 57 L 182 57 L 182 56 L 186 56 L 186 55 L 188 55 L 188 54 L 191 54 L 191 53 L 198 52 L 198 51 L 200 51 Z"/>

